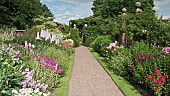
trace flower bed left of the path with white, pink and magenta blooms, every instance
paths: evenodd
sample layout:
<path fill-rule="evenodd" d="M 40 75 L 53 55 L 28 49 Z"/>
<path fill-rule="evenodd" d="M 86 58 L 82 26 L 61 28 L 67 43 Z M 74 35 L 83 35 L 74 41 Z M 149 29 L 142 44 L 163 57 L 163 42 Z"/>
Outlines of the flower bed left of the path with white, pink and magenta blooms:
<path fill-rule="evenodd" d="M 68 69 L 69 56 L 74 52 L 72 45 L 35 40 L 33 34 L 23 36 L 28 38 L 30 35 L 28 42 L 22 39 L 20 43 L 15 39 L 20 37 L 14 36 L 17 42 L 0 45 L 2 96 L 49 96 Z"/>

